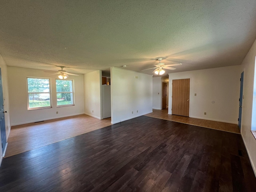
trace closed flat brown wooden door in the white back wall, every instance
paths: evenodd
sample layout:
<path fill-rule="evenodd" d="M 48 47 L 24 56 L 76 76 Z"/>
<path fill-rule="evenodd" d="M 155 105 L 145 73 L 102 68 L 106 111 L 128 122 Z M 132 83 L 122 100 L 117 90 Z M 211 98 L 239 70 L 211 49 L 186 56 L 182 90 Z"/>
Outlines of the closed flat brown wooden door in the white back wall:
<path fill-rule="evenodd" d="M 172 80 L 172 114 L 189 116 L 190 79 Z"/>

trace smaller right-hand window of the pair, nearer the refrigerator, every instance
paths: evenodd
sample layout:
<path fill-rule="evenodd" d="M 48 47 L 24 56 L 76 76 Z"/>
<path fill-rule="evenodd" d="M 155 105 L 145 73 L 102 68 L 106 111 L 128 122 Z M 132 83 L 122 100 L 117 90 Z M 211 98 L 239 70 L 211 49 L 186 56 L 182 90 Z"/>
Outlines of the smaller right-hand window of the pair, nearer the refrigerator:
<path fill-rule="evenodd" d="M 56 79 L 57 106 L 74 105 L 73 80 Z"/>

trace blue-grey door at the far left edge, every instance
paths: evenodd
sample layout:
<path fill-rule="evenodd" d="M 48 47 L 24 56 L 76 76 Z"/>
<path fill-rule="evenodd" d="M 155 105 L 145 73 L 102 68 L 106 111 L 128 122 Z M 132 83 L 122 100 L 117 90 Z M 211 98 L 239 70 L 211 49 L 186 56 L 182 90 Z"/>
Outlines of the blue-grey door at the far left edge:
<path fill-rule="evenodd" d="M 2 152 L 4 152 L 6 146 L 6 132 L 5 132 L 5 121 L 4 121 L 4 96 L 2 88 L 2 74 L 0 68 L 0 131 L 2 140 Z"/>

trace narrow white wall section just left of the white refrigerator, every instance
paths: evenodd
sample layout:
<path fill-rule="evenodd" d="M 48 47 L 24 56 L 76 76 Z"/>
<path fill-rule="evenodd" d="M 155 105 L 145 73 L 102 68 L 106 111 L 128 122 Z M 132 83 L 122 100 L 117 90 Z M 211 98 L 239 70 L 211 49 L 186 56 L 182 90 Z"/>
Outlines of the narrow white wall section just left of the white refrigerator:
<path fill-rule="evenodd" d="M 84 74 L 84 113 L 102 119 L 102 71 Z"/>

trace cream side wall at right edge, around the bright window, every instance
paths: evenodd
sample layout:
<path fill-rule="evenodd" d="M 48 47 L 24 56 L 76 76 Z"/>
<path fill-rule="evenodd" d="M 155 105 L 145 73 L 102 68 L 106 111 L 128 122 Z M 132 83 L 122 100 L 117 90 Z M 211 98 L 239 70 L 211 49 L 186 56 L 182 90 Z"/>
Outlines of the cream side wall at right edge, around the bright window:
<path fill-rule="evenodd" d="M 244 71 L 244 99 L 242 108 L 241 134 L 254 169 L 254 174 L 256 175 L 256 139 L 251 133 L 252 118 L 256 118 L 256 116 L 252 117 L 255 57 L 256 41 L 244 58 L 242 62 L 242 70 L 240 71 L 240 73 Z"/>

